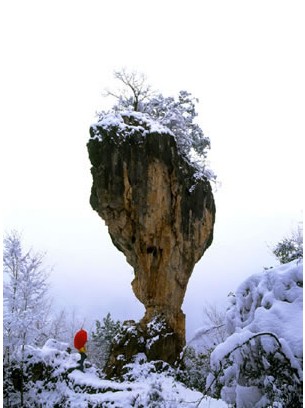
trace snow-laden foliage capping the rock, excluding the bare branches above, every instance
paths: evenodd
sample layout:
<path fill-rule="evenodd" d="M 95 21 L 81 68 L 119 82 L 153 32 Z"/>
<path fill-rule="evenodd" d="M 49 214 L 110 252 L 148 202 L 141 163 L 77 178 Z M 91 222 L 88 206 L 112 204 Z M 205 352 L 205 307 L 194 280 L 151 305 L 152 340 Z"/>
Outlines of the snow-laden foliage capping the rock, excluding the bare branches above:
<path fill-rule="evenodd" d="M 196 103 L 198 100 L 189 92 L 180 91 L 176 99 L 152 93 L 137 102 L 136 105 L 134 97 L 118 96 L 117 99 L 118 103 L 110 112 L 98 114 L 99 126 L 109 128 L 112 124 L 112 127 L 116 126 L 120 129 L 123 123 L 126 123 L 124 116 L 136 117 L 137 121 L 146 123 L 144 133 L 147 133 L 148 127 L 150 133 L 172 134 L 176 139 L 181 155 L 196 167 L 197 177 L 206 177 L 209 180 L 216 179 L 215 174 L 207 165 L 210 139 L 203 134 L 202 129 L 196 123 Z"/>

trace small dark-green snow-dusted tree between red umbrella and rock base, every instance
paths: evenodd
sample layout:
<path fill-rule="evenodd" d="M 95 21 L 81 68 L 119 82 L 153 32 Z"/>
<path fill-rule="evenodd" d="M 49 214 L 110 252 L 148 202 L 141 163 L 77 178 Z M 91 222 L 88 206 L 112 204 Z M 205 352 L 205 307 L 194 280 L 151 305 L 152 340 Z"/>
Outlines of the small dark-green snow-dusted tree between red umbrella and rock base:
<path fill-rule="evenodd" d="M 96 320 L 95 331 L 92 332 L 89 351 L 92 363 L 98 368 L 104 368 L 109 358 L 113 338 L 119 332 L 120 328 L 120 321 L 114 321 L 110 313 L 103 318 L 102 323 Z"/>

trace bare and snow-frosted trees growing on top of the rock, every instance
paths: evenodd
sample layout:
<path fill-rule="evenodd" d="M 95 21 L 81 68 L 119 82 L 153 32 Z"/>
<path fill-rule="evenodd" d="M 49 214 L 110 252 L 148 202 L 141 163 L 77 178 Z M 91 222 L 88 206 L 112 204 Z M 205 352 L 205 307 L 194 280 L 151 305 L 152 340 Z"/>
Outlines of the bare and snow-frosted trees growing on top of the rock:
<path fill-rule="evenodd" d="M 116 92 L 107 90 L 106 92 L 107 96 L 117 99 L 112 113 L 124 114 L 131 111 L 143 113 L 172 132 L 182 155 L 197 166 L 206 167 L 210 139 L 203 134 L 202 129 L 196 123 L 197 98 L 184 90 L 179 92 L 177 98 L 164 97 L 152 91 L 146 83 L 145 76 L 136 72 L 115 71 L 114 76 L 123 84 L 123 89 Z M 99 120 L 109 113 L 100 112 Z M 215 174 L 211 170 L 205 175 L 208 175 L 210 179 L 215 179 Z"/>

